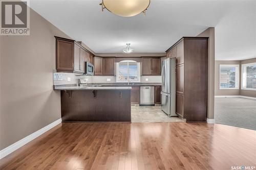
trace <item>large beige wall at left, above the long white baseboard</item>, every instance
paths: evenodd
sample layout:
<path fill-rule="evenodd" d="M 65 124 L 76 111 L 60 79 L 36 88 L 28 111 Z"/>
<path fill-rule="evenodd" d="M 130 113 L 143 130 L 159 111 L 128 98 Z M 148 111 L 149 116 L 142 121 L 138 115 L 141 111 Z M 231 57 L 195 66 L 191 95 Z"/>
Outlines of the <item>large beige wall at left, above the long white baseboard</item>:
<path fill-rule="evenodd" d="M 53 36 L 70 37 L 33 10 L 30 19 L 30 36 L 0 36 L 0 150 L 61 117 Z"/>

